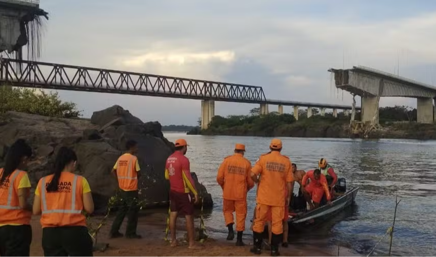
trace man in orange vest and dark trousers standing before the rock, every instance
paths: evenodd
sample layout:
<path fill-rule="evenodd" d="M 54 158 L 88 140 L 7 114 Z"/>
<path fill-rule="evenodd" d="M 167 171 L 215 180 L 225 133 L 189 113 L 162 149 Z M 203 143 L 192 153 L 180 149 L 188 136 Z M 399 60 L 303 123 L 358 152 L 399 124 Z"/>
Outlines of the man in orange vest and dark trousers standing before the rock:
<path fill-rule="evenodd" d="M 136 233 L 138 224 L 138 212 L 140 207 L 137 205 L 138 200 L 138 179 L 141 176 L 140 166 L 135 154 L 138 151 L 136 141 L 129 140 L 126 142 L 127 152 L 121 155 L 113 166 L 118 186 L 120 187 L 119 196 L 122 199 L 121 207 L 116 213 L 110 231 L 111 238 L 121 238 L 120 227 L 127 214 L 126 238 L 140 239 L 141 235 Z"/>

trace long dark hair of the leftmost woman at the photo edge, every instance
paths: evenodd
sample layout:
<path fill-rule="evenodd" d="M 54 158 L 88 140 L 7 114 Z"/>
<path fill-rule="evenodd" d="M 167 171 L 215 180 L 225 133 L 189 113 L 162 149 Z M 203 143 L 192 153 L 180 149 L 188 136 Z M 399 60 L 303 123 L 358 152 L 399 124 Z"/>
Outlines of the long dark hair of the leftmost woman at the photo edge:
<path fill-rule="evenodd" d="M 32 148 L 23 139 L 18 139 L 8 150 L 0 184 L 3 184 L 6 178 L 18 168 L 25 156 L 32 156 Z"/>

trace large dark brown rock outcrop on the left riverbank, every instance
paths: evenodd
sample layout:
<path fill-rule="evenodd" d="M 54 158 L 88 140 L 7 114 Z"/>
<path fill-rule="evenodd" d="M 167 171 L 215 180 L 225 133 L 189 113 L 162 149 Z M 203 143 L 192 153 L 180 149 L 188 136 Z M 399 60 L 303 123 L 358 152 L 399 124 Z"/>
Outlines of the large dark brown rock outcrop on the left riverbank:
<path fill-rule="evenodd" d="M 0 118 L 0 166 L 8 147 L 17 139 L 25 139 L 34 149 L 29 164 L 32 185 L 50 172 L 57 150 L 68 146 L 78 158 L 76 173 L 88 180 L 97 212 L 104 212 L 116 189 L 112 167 L 122 154 L 127 140 L 138 142 L 141 166 L 140 198 L 153 207 L 166 205 L 168 181 L 164 177 L 165 161 L 174 145 L 162 133 L 158 122 L 143 123 L 120 106 L 94 112 L 91 120 L 51 118 L 26 113 L 8 112 Z M 196 180 L 202 192 L 204 207 L 213 205 L 206 188 Z"/>

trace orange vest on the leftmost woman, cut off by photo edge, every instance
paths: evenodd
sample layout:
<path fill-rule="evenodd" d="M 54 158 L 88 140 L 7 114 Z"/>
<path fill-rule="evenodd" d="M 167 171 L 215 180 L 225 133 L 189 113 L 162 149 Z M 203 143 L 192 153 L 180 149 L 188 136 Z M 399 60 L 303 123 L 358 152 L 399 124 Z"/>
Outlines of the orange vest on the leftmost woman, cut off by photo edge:
<path fill-rule="evenodd" d="M 18 202 L 18 185 L 24 175 L 25 171 L 15 170 L 0 184 L 0 224 L 30 224 L 32 213 L 19 207 Z"/>

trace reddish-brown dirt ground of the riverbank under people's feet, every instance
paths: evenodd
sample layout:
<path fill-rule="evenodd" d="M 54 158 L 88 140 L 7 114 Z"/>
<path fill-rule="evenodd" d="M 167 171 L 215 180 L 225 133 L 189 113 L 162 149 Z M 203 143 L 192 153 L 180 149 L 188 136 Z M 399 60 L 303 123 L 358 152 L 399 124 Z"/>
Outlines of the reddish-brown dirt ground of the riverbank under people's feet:
<path fill-rule="evenodd" d="M 95 223 L 98 219 L 95 218 Z M 141 217 L 138 222 L 138 234 L 143 236 L 143 239 L 108 239 L 109 228 L 112 219 L 109 219 L 107 224 L 103 226 L 97 236 L 98 243 L 108 243 L 109 248 L 104 252 L 94 252 L 95 257 L 138 257 L 138 256 L 253 256 L 250 253 L 252 246 L 252 239 L 250 236 L 244 238 L 246 243 L 245 247 L 236 247 L 234 242 L 228 242 L 224 238 L 213 238 L 204 242 L 202 250 L 189 250 L 184 236 L 186 229 L 182 219 L 179 219 L 177 224 L 177 239 L 182 241 L 180 246 L 170 247 L 169 243 L 164 241 L 166 216 L 162 213 L 155 213 Z M 43 250 L 41 247 L 42 229 L 39 225 L 39 217 L 32 219 L 33 240 L 31 245 L 31 257 L 43 257 Z M 121 228 L 121 232 L 125 230 L 125 224 Z M 340 249 L 340 256 L 357 256 L 350 253 L 348 249 Z M 288 248 L 280 248 L 281 256 L 298 256 L 298 257 L 327 257 L 337 256 L 337 249 L 318 249 L 313 245 L 307 246 L 293 246 L 289 245 Z M 259 256 L 270 256 L 269 251 L 264 251 Z"/>

